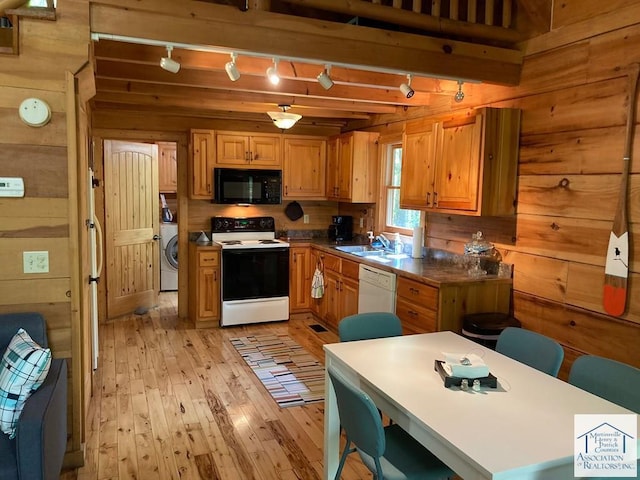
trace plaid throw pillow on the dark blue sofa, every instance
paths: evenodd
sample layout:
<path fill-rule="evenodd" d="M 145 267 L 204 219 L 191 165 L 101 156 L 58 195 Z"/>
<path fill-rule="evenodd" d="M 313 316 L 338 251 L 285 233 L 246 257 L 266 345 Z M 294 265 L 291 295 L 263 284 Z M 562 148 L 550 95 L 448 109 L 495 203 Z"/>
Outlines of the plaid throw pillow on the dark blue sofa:
<path fill-rule="evenodd" d="M 16 423 L 24 402 L 47 378 L 51 366 L 51 350 L 34 342 L 24 329 L 19 329 L 0 362 L 0 430 L 16 436 Z"/>

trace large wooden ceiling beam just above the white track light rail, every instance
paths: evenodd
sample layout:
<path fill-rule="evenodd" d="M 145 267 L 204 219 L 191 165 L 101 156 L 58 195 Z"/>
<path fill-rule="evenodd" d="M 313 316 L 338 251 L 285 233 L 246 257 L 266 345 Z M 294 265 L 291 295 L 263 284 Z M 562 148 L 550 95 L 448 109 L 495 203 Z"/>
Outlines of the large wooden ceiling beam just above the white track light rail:
<path fill-rule="evenodd" d="M 203 4 L 198 6 L 199 15 L 185 9 L 183 2 L 182 13 L 176 15 L 165 13 L 172 8 L 165 1 L 141 0 L 136 10 L 131 5 L 120 8 L 118 3 L 127 2 L 91 2 L 92 32 L 426 77 L 505 85 L 517 85 L 520 80 L 522 54 L 518 50 L 259 10 L 241 12 L 204 2 L 185 2 Z"/>

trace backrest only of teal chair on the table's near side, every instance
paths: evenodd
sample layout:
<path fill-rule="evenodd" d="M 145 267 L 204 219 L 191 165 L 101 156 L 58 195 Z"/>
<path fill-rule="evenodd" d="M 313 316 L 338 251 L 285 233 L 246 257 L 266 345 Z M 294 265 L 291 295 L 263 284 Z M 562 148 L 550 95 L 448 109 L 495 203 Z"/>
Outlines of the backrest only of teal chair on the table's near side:
<path fill-rule="evenodd" d="M 373 400 L 332 367 L 327 371 L 336 392 L 340 425 L 347 437 L 370 457 L 381 457 L 386 441 L 380 413 Z"/>

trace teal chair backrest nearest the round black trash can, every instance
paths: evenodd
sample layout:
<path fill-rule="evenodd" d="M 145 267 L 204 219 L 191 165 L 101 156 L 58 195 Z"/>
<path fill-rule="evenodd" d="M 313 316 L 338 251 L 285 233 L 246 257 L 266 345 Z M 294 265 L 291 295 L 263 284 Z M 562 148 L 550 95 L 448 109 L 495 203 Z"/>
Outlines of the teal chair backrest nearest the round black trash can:
<path fill-rule="evenodd" d="M 564 359 L 564 350 L 558 342 L 517 327 L 507 327 L 500 333 L 496 352 L 554 377 L 558 376 Z"/>

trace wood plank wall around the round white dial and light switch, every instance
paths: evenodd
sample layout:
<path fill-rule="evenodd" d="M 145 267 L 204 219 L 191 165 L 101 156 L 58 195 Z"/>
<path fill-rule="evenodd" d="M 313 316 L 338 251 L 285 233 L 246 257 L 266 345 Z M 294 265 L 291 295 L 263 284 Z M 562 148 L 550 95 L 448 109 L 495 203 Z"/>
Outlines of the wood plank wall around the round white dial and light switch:
<path fill-rule="evenodd" d="M 69 406 L 66 463 L 82 462 L 81 359 L 78 274 L 71 258 L 70 225 L 76 186 L 68 168 L 66 72 L 76 72 L 88 52 L 87 2 L 58 2 L 55 22 L 20 19 L 20 55 L 0 55 L 0 176 L 22 177 L 24 198 L 0 198 L 0 312 L 39 311 L 53 355 L 67 359 Z M 53 54 L 56 52 L 56 54 Z M 73 95 L 73 94 L 72 94 Z M 45 100 L 52 119 L 42 128 L 23 124 L 20 103 Z M 75 120 L 74 120 L 75 121 Z M 49 252 L 49 272 L 23 273 L 22 252 Z"/>

